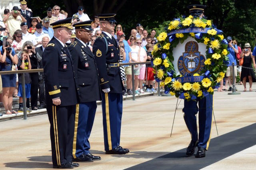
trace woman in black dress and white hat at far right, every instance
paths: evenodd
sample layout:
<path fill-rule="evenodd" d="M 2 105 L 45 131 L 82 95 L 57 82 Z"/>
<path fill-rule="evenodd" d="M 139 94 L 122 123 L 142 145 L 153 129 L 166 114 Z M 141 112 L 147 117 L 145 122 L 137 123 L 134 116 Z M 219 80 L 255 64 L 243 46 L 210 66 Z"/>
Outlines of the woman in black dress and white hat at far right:
<path fill-rule="evenodd" d="M 254 56 L 252 55 L 250 43 L 245 43 L 244 49 L 240 54 L 240 58 L 243 58 L 241 81 L 244 85 L 244 92 L 246 92 L 246 82 L 250 84 L 250 92 L 252 92 L 252 82 L 256 82 L 255 73 L 252 68 L 252 63 L 256 67 Z"/>

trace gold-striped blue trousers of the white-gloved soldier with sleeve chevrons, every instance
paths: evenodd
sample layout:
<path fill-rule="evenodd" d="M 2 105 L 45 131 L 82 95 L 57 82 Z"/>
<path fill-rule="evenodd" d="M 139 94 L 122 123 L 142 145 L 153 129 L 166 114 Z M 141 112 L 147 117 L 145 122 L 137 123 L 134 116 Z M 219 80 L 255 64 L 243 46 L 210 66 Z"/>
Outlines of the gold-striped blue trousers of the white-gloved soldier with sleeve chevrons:
<path fill-rule="evenodd" d="M 120 145 L 121 120 L 123 111 L 122 93 L 104 93 L 102 95 L 102 116 L 105 150 Z"/>

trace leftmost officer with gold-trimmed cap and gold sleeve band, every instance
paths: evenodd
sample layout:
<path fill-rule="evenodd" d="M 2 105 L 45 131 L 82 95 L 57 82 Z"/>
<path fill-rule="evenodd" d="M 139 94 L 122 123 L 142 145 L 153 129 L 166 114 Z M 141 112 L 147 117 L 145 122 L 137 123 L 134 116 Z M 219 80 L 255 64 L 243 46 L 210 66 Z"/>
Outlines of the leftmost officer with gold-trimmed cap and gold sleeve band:
<path fill-rule="evenodd" d="M 71 20 L 72 18 L 66 18 L 52 23 L 54 37 L 44 49 L 42 57 L 53 168 L 79 166 L 72 162 L 78 92 L 72 57 L 65 45 L 73 29 Z"/>

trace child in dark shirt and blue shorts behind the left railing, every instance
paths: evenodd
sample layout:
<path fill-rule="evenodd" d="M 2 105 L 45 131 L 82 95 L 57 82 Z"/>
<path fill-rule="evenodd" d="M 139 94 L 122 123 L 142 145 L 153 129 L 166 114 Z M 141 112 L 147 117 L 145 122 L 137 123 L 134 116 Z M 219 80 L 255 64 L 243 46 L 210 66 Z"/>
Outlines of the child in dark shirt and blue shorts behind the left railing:
<path fill-rule="evenodd" d="M 30 59 L 28 55 L 28 51 L 24 50 L 21 53 L 21 57 L 18 60 L 18 70 L 31 70 L 31 64 L 30 64 Z M 22 74 L 18 74 L 19 78 L 19 91 L 18 91 L 18 96 L 19 98 L 19 109 L 18 112 L 23 112 L 23 96 L 22 96 Z M 30 98 L 30 88 L 31 88 L 31 78 L 29 73 L 24 73 L 24 78 L 25 78 L 25 92 L 26 92 L 26 98 Z M 31 109 L 27 108 L 27 111 L 32 111 Z"/>

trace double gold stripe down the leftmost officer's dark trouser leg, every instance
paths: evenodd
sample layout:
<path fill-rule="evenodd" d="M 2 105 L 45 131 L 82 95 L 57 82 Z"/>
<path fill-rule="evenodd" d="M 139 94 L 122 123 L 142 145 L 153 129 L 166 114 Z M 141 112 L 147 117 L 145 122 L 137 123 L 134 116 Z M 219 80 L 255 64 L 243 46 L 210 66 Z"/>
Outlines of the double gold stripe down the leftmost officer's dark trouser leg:
<path fill-rule="evenodd" d="M 58 139 L 58 124 L 57 124 L 56 106 L 52 106 L 52 118 L 53 118 L 53 128 L 54 128 L 54 139 L 55 139 L 55 150 L 56 150 L 57 164 L 60 165 L 60 149 L 59 149 L 59 139 Z"/>

